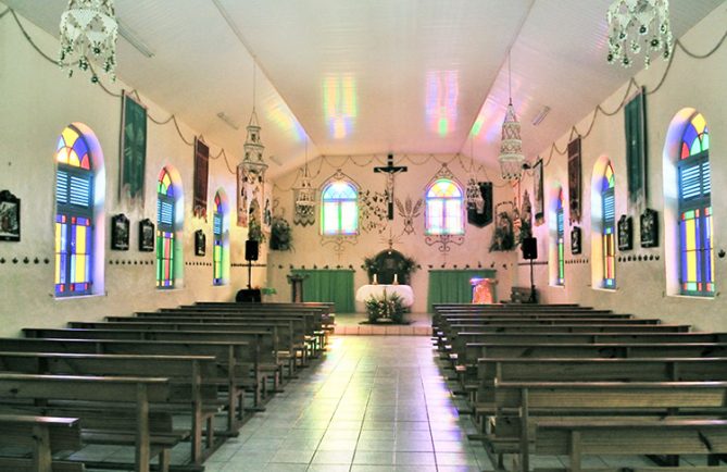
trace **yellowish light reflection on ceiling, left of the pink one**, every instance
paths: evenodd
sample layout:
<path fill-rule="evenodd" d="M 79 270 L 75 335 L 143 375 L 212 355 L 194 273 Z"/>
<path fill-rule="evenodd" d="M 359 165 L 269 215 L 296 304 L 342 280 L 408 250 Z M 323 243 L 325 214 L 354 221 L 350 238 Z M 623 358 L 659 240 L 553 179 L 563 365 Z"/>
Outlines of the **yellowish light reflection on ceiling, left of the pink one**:
<path fill-rule="evenodd" d="M 324 78 L 323 111 L 329 136 L 342 139 L 351 134 L 359 105 L 356 83 L 350 74 L 329 74 Z"/>

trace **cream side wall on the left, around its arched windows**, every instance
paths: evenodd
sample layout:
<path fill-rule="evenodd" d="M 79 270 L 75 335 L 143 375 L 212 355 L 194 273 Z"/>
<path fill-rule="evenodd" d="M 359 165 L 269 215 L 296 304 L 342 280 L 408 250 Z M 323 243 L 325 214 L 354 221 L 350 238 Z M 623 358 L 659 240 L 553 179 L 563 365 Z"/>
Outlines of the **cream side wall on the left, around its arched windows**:
<path fill-rule="evenodd" d="M 48 53 L 55 54 L 58 41 L 27 21 L 29 35 Z M 109 88 L 118 92 L 130 89 L 120 77 Z M 68 320 L 99 320 L 104 315 L 128 315 L 137 310 L 173 307 L 195 300 L 234 298 L 247 285 L 247 270 L 233 268 L 230 284 L 212 285 L 212 202 L 222 187 L 233 204 L 230 220 L 230 259 L 243 263 L 247 228 L 236 225 L 234 202 L 236 179 L 223 159 L 210 161 L 209 221 L 192 219 L 193 150 L 184 144 L 172 123 L 148 122 L 147 182 L 145 208 L 121 203 L 118 192 L 118 152 L 121 99 L 109 96 L 90 83 L 87 75 L 68 78 L 58 66 L 42 59 L 22 36 L 11 15 L 0 20 L 0 190 L 8 189 L 22 200 L 22 240 L 0 241 L 0 336 L 13 336 L 24 326 L 61 326 Z M 150 115 L 166 119 L 170 111 L 143 97 Z M 195 97 L 189 97 L 193 100 Z M 53 218 L 54 150 L 59 134 L 70 123 L 88 125 L 98 137 L 105 159 L 105 224 L 117 213 L 130 220 L 130 250 L 110 250 L 110 231 L 105 234 L 105 295 L 54 299 L 53 297 Z M 181 132 L 191 140 L 199 131 L 181 123 Z M 206 136 L 211 153 L 220 145 Z M 228 147 L 228 146 L 226 146 Z M 236 165 L 237 162 L 231 162 Z M 156 221 L 155 181 L 162 166 L 174 165 L 181 175 L 185 192 L 184 287 L 155 289 L 154 253 L 139 252 L 138 222 Z M 193 256 L 193 233 L 206 234 L 206 257 Z M 25 258 L 29 263 L 24 263 Z M 35 259 L 39 263 L 35 263 Z M 17 259 L 17 263 L 12 260 Z M 43 260 L 48 260 L 46 264 Z M 264 263 L 264 254 L 263 260 Z M 264 269 L 253 270 L 253 284 L 264 285 Z"/>

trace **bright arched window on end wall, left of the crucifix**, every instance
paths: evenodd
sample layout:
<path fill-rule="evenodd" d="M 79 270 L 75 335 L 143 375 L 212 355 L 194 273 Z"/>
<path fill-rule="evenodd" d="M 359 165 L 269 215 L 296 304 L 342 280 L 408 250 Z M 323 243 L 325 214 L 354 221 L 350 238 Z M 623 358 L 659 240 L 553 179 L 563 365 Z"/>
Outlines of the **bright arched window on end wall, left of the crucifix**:
<path fill-rule="evenodd" d="M 359 233 L 359 191 L 346 181 L 334 181 L 323 188 L 321 232 L 325 236 Z"/>

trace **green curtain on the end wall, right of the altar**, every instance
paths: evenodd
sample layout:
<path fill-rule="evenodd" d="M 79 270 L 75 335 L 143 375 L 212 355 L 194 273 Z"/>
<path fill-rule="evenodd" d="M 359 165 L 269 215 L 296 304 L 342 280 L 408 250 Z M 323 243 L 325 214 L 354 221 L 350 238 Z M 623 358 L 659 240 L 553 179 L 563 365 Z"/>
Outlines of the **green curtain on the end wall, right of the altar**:
<path fill-rule="evenodd" d="M 496 278 L 493 269 L 462 269 L 429 271 L 429 289 L 427 307 L 431 311 L 434 303 L 469 303 L 472 302 L 472 285 L 469 280 Z M 497 286 L 493 290 L 497 300 Z"/>

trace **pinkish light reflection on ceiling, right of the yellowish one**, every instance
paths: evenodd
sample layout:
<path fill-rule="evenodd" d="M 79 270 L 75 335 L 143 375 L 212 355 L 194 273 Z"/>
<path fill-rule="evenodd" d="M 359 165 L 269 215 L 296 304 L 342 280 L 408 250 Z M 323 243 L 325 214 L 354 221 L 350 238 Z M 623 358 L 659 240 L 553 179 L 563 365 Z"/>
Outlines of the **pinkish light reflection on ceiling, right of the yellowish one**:
<path fill-rule="evenodd" d="M 446 137 L 456 128 L 457 71 L 427 72 L 426 120 L 429 129 Z"/>

